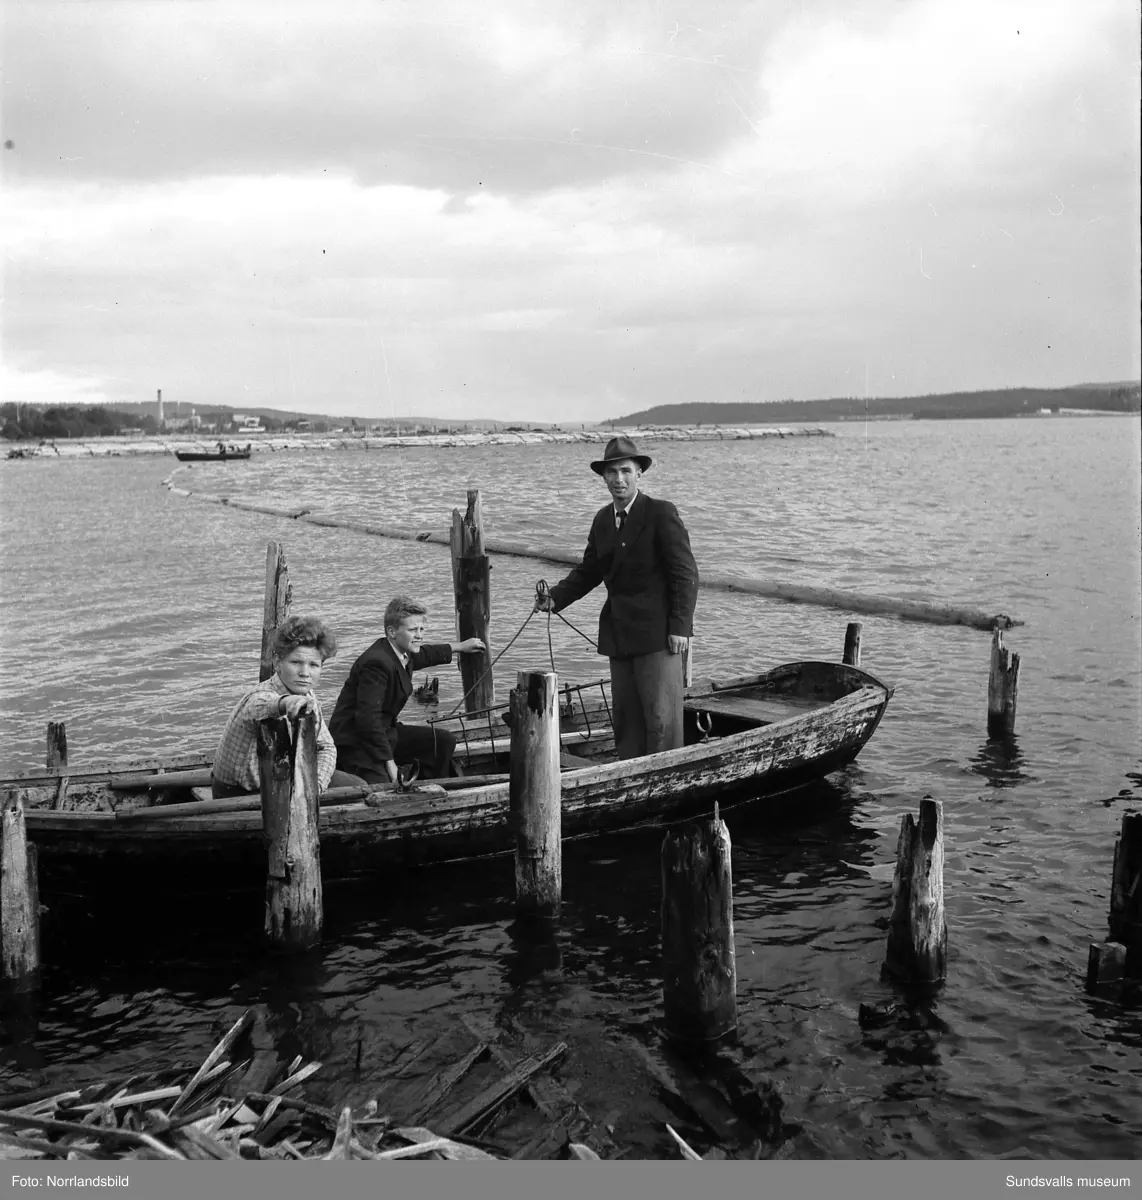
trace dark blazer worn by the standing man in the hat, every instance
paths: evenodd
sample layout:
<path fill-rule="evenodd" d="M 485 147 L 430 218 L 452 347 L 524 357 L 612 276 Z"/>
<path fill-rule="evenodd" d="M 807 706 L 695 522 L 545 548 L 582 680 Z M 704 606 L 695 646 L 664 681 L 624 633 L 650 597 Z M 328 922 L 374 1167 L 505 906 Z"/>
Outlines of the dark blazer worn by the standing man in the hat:
<path fill-rule="evenodd" d="M 599 614 L 599 653 L 629 659 L 667 649 L 667 637 L 693 634 L 698 566 L 678 509 L 639 491 L 621 535 L 614 505 L 595 514 L 582 566 L 552 589 L 555 611 L 600 583 L 607 602 Z"/>

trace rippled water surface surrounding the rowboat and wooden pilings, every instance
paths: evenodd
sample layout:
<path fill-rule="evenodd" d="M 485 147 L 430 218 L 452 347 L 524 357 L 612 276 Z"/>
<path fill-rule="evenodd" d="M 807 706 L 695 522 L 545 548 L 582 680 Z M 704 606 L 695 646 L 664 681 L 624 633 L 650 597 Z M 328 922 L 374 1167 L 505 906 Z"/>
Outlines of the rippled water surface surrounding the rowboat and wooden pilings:
<path fill-rule="evenodd" d="M 1114 835 L 1140 800 L 1138 422 L 834 428 L 651 444 L 645 482 L 675 500 L 708 572 L 1022 618 L 1008 636 L 1022 654 L 1018 733 L 1006 748 L 986 739 L 987 635 L 860 618 L 862 665 L 896 688 L 874 738 L 798 824 L 731 822 L 751 1069 L 781 1088 L 801 1157 L 1135 1157 L 1142 1013 L 1087 996 L 1082 982 L 1087 944 L 1106 934 Z M 578 550 L 606 499 L 585 467 L 593 454 L 266 454 L 178 479 L 438 530 L 479 486 L 491 536 Z M 451 635 L 446 550 L 184 499 L 160 487 L 172 469 L 169 458 L 0 463 L 7 767 L 42 761 L 48 720 L 67 721 L 73 764 L 211 746 L 257 674 L 271 538 L 287 546 L 295 611 L 337 631 L 330 702 L 398 588 L 425 598 L 438 636 Z M 494 652 L 524 620 L 536 578 L 560 574 L 494 560 Z M 581 601 L 567 616 L 594 632 L 597 607 Z M 847 619 L 703 590 L 697 673 L 839 658 Z M 602 673 L 575 634 L 558 623 L 552 634 L 561 674 Z M 534 620 L 497 666 L 501 688 L 546 661 Z M 458 700 L 458 674 L 443 672 L 440 686 L 445 706 Z M 927 793 L 944 803 L 948 984 L 915 1027 L 862 1031 L 858 1006 L 892 995 L 878 982 L 878 920 L 896 829 Z M 561 1076 L 579 1103 L 636 1156 L 673 1157 L 662 1126 L 685 1118 L 631 1057 L 660 1003 L 659 841 L 569 844 L 566 911 L 546 953 L 513 926 L 509 864 L 332 888 L 321 953 L 288 968 L 251 954 L 257 898 L 206 930 L 198 901 L 155 913 L 139 898 L 114 919 L 80 905 L 68 928 L 47 926 L 44 986 L 32 1013 L 10 1016 L 0 1092 L 197 1061 L 223 1021 L 259 1003 L 287 1048 L 326 1063 L 313 1094 L 363 1099 L 411 1037 L 440 1038 L 425 1070 L 467 1049 L 464 1012 L 536 1045 L 566 1040 Z"/>

